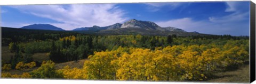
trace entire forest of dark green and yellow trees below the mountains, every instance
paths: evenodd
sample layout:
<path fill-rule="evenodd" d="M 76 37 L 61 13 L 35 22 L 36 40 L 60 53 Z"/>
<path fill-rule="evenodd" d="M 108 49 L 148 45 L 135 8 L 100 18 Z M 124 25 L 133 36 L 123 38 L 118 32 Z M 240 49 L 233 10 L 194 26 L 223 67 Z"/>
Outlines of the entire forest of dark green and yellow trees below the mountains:
<path fill-rule="evenodd" d="M 2 28 L 3 46 L 13 55 L 10 60 L 2 55 L 2 78 L 203 81 L 248 62 L 250 45 L 249 36 L 98 35 Z M 46 53 L 49 60 L 36 61 L 35 53 Z M 82 59 L 82 68 L 54 67 Z"/>

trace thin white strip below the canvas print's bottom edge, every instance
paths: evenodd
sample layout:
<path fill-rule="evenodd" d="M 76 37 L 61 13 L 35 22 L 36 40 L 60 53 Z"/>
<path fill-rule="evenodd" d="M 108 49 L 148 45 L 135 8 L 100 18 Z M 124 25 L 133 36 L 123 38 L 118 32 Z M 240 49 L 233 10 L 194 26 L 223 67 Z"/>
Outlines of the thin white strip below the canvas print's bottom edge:
<path fill-rule="evenodd" d="M 5 83 L 13 83 L 13 84 L 47 84 L 47 83 L 54 83 L 54 84 L 79 84 L 79 83 L 86 83 L 86 84 L 171 84 L 171 83 L 179 83 L 179 84 L 187 84 L 187 83 L 205 83 L 205 82 L 157 82 L 157 81 L 100 81 L 100 80 L 45 80 L 45 79 L 0 79 L 0 82 Z M 211 83 L 207 83 L 211 84 Z M 212 83 L 214 84 L 214 83 Z M 229 83 L 218 83 L 218 84 L 229 84 Z M 234 83 L 233 83 L 234 84 Z"/>

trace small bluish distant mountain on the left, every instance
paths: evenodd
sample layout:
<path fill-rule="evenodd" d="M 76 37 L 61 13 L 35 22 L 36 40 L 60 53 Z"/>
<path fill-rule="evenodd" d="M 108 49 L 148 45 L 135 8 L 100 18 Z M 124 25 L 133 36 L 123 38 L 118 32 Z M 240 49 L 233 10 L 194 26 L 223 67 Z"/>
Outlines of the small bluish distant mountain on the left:
<path fill-rule="evenodd" d="M 33 29 L 33 30 L 54 30 L 54 31 L 65 31 L 59 27 L 50 24 L 32 24 L 21 27 L 21 29 Z"/>

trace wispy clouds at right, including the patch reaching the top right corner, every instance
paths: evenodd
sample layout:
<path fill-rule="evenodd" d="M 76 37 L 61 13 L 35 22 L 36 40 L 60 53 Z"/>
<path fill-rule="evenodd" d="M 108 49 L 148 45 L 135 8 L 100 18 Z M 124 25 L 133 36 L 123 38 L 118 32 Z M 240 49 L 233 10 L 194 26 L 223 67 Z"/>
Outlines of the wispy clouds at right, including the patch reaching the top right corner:
<path fill-rule="evenodd" d="M 225 16 L 211 16 L 209 20 L 195 21 L 184 17 L 169 21 L 156 22 L 159 26 L 173 26 L 188 32 L 197 31 L 206 34 L 249 35 L 249 3 L 226 2 Z M 242 7 L 241 7 L 242 6 Z"/>

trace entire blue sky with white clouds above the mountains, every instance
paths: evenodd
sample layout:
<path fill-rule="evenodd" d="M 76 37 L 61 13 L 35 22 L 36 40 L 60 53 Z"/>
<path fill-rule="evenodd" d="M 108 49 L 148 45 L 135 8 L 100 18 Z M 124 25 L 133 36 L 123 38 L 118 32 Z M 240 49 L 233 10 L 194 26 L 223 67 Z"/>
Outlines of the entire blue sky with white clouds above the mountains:
<path fill-rule="evenodd" d="M 188 32 L 249 35 L 250 2 L 169 2 L 1 6 L 1 26 L 52 24 L 64 30 L 132 18 Z"/>

